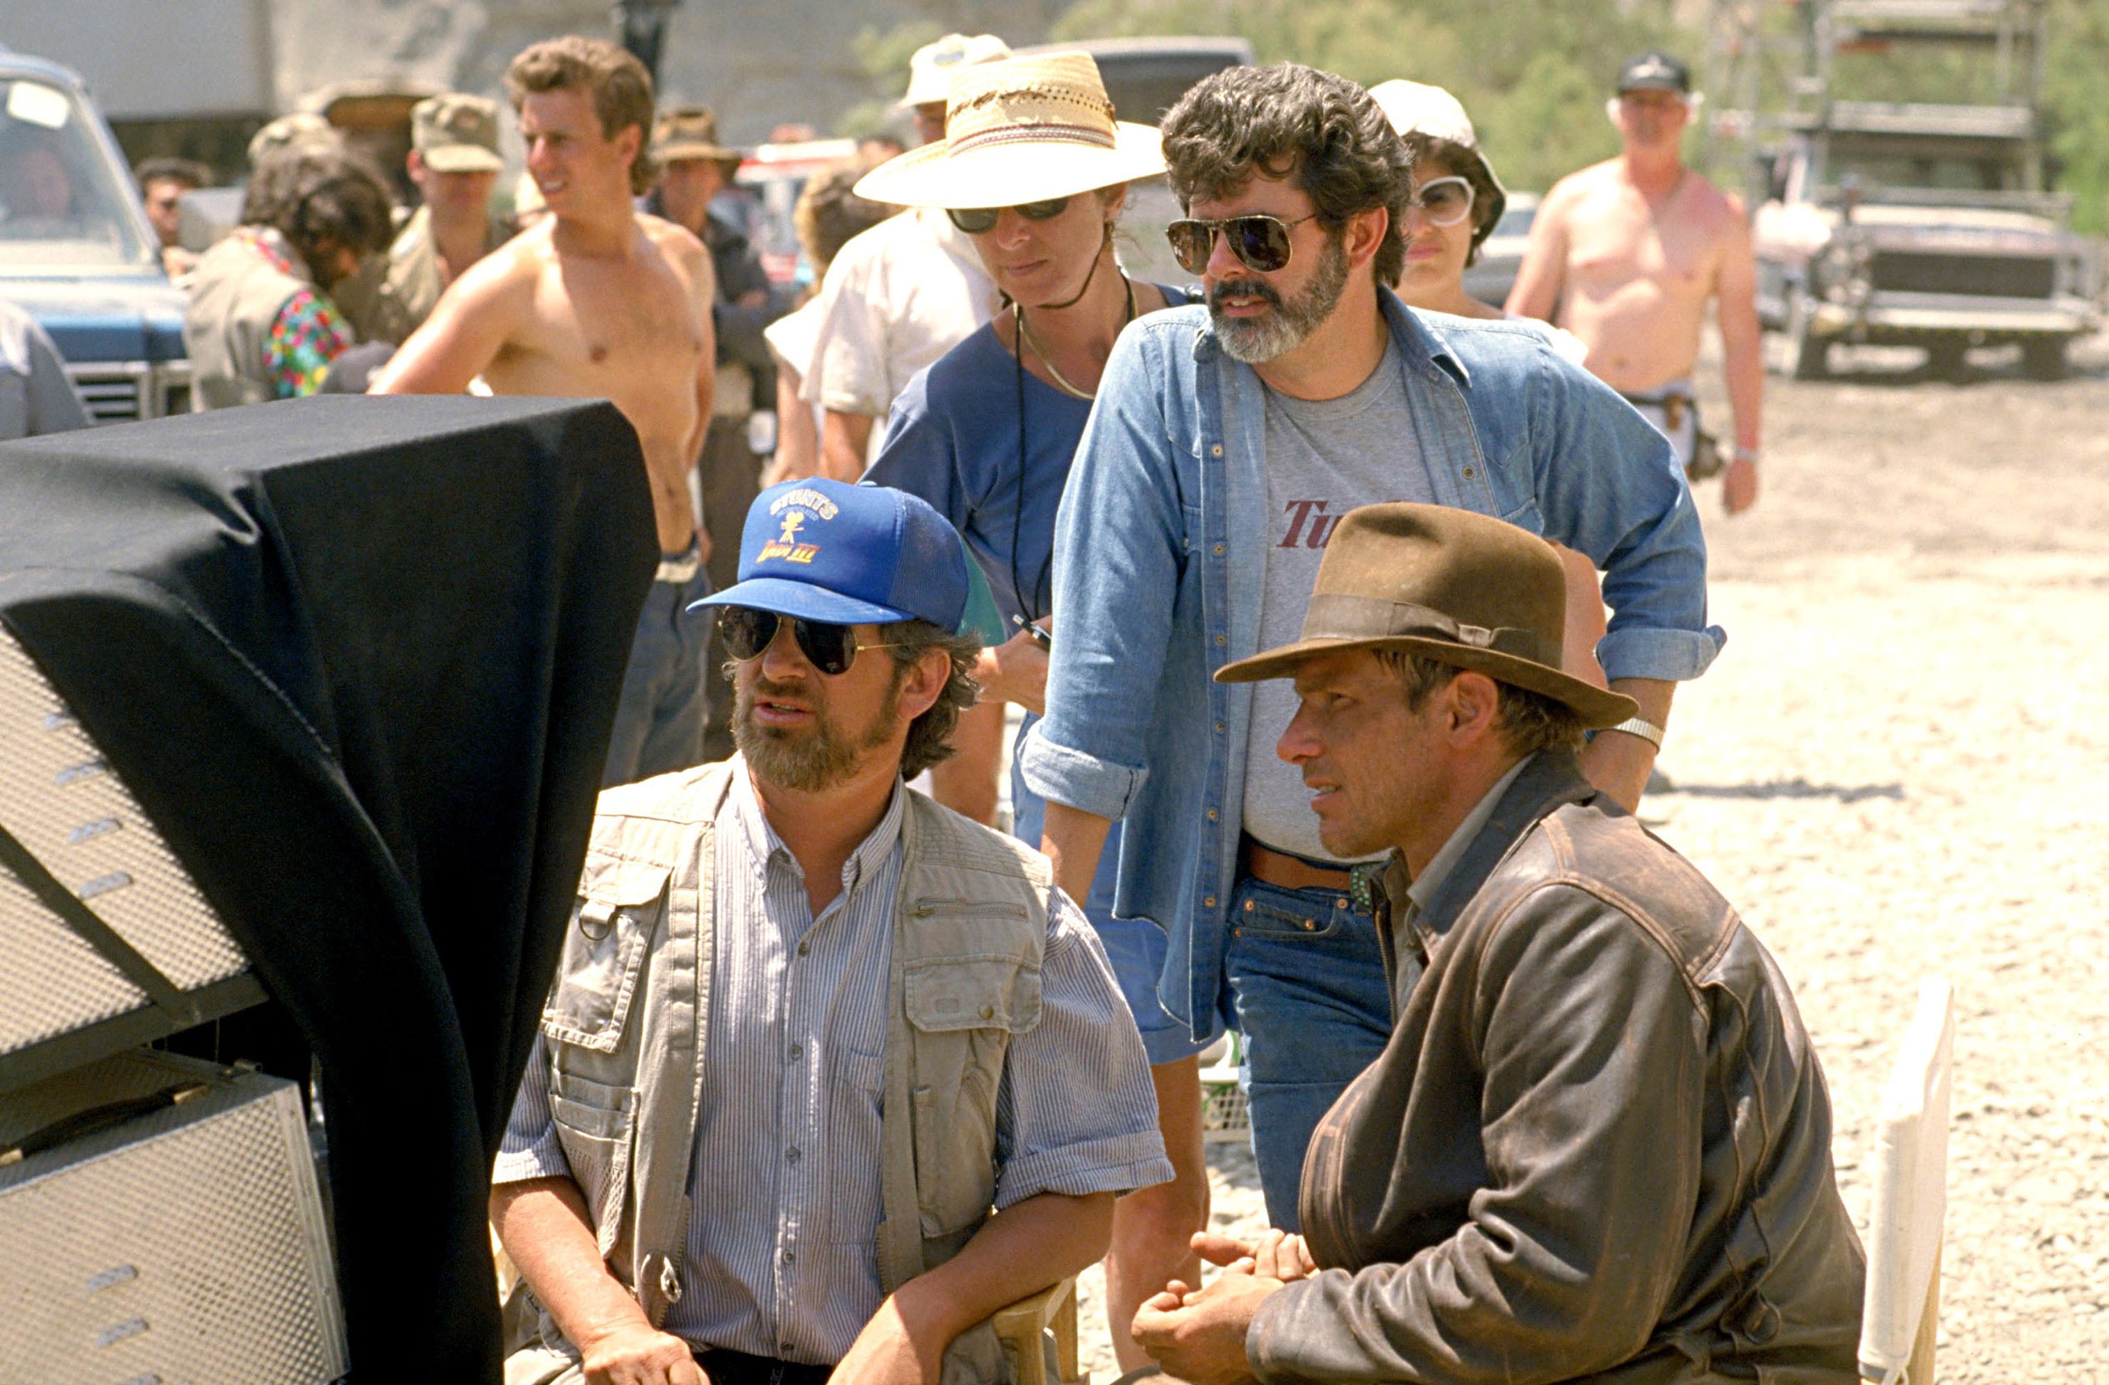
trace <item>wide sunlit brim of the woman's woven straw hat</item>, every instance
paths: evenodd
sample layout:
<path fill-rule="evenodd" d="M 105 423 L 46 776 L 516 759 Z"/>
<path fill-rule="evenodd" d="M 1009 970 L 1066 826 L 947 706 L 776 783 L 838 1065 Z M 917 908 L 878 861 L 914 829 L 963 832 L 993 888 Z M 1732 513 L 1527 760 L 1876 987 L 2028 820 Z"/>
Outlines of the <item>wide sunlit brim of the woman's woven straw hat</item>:
<path fill-rule="evenodd" d="M 926 143 L 856 181 L 856 196 L 894 207 L 1017 207 L 1076 196 L 1164 173 L 1164 143 L 1152 124 L 1114 122 L 1114 148 L 1033 139 L 1019 131 L 964 152 Z"/>

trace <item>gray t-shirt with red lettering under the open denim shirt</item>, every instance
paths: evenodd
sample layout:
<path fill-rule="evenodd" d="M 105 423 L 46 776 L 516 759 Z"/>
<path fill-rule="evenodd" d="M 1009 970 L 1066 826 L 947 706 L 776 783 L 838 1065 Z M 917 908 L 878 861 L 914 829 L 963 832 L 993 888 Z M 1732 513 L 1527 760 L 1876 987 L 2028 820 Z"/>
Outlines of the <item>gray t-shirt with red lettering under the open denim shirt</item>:
<path fill-rule="evenodd" d="M 1295 643 L 1333 525 L 1348 510 L 1388 500 L 1434 500 L 1413 436 L 1398 346 L 1386 342 L 1369 379 L 1339 398 L 1289 398 L 1268 390 L 1268 586 L 1259 647 Z M 1244 831 L 1276 852 L 1337 860 L 1318 845 L 1303 772 L 1274 753 L 1297 715 L 1289 679 L 1253 685 L 1253 731 L 1244 748 Z"/>

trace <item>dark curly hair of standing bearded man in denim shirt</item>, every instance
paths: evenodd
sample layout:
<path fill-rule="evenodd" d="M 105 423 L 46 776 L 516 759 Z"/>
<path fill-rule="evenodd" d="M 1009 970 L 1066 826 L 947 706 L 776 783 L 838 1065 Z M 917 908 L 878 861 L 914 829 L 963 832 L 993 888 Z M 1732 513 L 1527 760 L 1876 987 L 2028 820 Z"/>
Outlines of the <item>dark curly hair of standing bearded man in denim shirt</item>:
<path fill-rule="evenodd" d="M 1384 108 L 1348 78 L 1303 63 L 1225 67 L 1189 86 L 1160 129 L 1183 207 L 1196 194 L 1232 194 L 1255 173 L 1295 177 L 1335 236 L 1350 217 L 1381 207 L 1390 226 L 1373 270 L 1379 285 L 1398 280 L 1413 156 Z"/>

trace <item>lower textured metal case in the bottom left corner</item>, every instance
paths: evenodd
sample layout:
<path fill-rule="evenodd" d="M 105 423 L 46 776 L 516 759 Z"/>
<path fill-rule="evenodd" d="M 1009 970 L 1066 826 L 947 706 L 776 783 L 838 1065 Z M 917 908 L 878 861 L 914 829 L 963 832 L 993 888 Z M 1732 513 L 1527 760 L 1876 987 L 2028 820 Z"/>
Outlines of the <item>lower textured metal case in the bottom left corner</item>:
<path fill-rule="evenodd" d="M 61 1090 L 78 1107 L 97 1105 L 82 1084 L 122 1100 L 198 1077 L 211 1084 L 200 1096 L 0 1168 L 0 1381 L 306 1385 L 346 1372 L 293 1084 L 137 1054 L 40 1088 L 46 1107 Z M 19 1132 L 17 1107 L 36 1090 L 0 1096 L 0 1126 Z"/>

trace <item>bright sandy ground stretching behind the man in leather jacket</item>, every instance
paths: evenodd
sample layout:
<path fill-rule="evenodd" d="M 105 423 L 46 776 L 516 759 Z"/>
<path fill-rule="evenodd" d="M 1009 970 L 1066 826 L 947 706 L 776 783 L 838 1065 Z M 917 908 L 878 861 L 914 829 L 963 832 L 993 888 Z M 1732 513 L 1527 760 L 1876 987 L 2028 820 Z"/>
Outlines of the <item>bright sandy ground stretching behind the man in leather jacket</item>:
<path fill-rule="evenodd" d="M 2054 386 L 1911 360 L 1769 379 L 1759 508 L 1702 491 L 1729 643 L 1643 818 L 1793 980 L 1862 1227 L 1917 982 L 1955 982 L 1938 1379 L 2109 1381 L 2109 344 Z M 1217 1225 L 1263 1225 L 1244 1149 L 1211 1174 Z"/>

